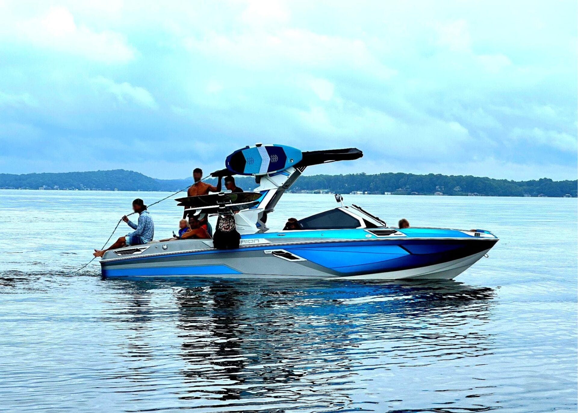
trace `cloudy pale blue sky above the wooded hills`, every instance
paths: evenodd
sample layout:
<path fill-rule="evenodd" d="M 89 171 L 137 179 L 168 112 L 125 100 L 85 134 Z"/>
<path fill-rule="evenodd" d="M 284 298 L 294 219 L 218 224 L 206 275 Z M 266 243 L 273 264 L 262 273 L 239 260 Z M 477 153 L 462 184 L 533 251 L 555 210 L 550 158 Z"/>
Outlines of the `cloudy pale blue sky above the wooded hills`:
<path fill-rule="evenodd" d="M 0 172 L 577 177 L 577 2 L 2 1 Z"/>

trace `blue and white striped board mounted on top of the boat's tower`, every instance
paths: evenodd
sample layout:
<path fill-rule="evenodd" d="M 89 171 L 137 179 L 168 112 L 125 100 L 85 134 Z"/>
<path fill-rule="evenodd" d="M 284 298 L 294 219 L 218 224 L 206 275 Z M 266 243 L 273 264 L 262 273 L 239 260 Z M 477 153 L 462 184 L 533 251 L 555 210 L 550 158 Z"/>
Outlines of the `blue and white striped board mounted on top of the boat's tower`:
<path fill-rule="evenodd" d="M 297 165 L 302 158 L 301 150 L 291 146 L 258 144 L 236 150 L 225 166 L 238 175 L 266 175 Z"/>

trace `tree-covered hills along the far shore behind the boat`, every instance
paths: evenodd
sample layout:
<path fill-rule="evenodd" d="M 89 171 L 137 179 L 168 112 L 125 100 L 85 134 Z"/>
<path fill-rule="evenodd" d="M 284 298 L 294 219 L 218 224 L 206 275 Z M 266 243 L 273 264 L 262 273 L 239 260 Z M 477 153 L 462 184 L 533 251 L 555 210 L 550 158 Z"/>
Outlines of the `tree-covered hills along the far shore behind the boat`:
<path fill-rule="evenodd" d="M 239 187 L 250 191 L 257 187 L 254 178 L 238 176 Z M 208 182 L 216 183 L 215 179 Z M 61 174 L 0 174 L 5 189 L 92 189 L 119 191 L 177 191 L 191 185 L 192 178 L 154 179 L 134 171 L 64 172 Z M 414 175 L 398 173 L 301 176 L 293 191 L 329 190 L 335 193 L 362 191 L 392 194 L 434 194 L 484 196 L 577 196 L 578 180 L 554 181 L 549 178 L 528 181 L 480 178 L 462 175 Z"/>

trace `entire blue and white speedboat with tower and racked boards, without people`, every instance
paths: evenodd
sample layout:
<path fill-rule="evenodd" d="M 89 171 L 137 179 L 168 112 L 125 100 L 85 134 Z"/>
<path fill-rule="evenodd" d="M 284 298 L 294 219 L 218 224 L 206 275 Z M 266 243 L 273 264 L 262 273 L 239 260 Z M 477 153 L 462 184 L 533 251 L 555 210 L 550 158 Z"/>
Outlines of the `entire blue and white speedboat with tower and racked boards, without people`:
<path fill-rule="evenodd" d="M 271 232 L 267 216 L 303 170 L 353 160 L 358 149 L 303 152 L 257 145 L 227 158 L 231 174 L 254 175 L 260 196 L 199 211 L 234 211 L 241 234 L 237 249 L 212 239 L 183 239 L 128 246 L 105 253 L 106 277 L 201 276 L 226 278 L 441 279 L 454 278 L 498 242 L 485 230 L 392 228 L 357 205 L 340 206 L 298 221 L 299 230 Z M 219 212 L 220 211 L 220 212 Z"/>

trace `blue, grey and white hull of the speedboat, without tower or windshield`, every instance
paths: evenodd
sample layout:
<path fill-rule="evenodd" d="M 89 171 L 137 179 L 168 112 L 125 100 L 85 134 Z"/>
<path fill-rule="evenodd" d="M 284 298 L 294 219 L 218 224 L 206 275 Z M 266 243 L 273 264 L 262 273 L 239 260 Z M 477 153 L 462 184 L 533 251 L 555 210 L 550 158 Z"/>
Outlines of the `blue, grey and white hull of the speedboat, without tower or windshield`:
<path fill-rule="evenodd" d="M 457 230 L 445 230 L 457 231 Z M 309 231 L 314 233 L 315 231 Z M 458 231 L 464 234 L 464 231 Z M 454 278 L 498 241 L 493 235 L 419 237 L 412 234 L 366 238 L 368 232 L 244 237 L 241 248 L 216 250 L 210 240 L 172 241 L 146 246 L 136 255 L 108 252 L 105 277 L 199 276 L 218 278 L 406 279 Z M 343 235 L 339 238 L 339 235 Z M 357 235 L 361 235 L 358 237 Z M 415 235 L 415 234 L 413 234 Z M 129 251 L 130 247 L 119 252 Z"/>

